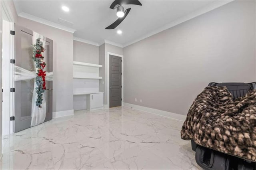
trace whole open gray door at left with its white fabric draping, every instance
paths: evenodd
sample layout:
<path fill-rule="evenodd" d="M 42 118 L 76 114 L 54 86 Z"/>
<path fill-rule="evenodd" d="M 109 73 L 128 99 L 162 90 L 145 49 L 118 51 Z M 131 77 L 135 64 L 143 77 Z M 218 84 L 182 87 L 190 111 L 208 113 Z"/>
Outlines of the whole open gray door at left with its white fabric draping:
<path fill-rule="evenodd" d="M 41 47 L 44 48 L 42 53 L 34 52 L 36 49 L 41 50 Z M 53 41 L 49 38 L 22 26 L 15 26 L 14 132 L 52 119 L 52 50 Z M 35 53 L 42 56 L 38 59 L 40 63 L 36 58 L 33 59 Z M 45 74 L 44 78 L 40 77 L 42 73 Z M 38 87 L 39 79 L 46 87 L 42 93 Z M 42 94 L 41 104 L 37 105 L 39 93 Z"/>

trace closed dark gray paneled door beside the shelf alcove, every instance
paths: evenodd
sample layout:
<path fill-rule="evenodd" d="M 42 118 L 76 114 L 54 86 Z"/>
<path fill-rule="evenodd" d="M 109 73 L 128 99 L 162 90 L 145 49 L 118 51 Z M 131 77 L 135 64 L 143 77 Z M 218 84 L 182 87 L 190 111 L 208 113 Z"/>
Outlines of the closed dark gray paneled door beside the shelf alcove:
<path fill-rule="evenodd" d="M 122 58 L 109 56 L 109 107 L 122 105 Z"/>

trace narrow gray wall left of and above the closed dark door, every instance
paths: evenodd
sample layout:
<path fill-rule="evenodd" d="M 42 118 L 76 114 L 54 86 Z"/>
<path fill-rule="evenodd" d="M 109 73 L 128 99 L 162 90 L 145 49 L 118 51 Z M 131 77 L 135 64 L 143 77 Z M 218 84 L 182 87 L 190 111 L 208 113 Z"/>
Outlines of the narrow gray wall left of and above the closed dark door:
<path fill-rule="evenodd" d="M 108 52 L 123 55 L 123 48 L 115 45 L 111 45 L 108 43 L 104 43 L 100 45 L 100 64 L 102 65 L 102 69 L 100 69 L 100 76 L 102 77 L 102 80 L 100 80 L 100 91 L 104 91 L 104 105 L 108 104 L 107 103 L 107 99 L 108 99 L 107 84 L 106 84 L 106 77 L 109 71 L 107 70 L 107 62 L 106 62 Z"/>

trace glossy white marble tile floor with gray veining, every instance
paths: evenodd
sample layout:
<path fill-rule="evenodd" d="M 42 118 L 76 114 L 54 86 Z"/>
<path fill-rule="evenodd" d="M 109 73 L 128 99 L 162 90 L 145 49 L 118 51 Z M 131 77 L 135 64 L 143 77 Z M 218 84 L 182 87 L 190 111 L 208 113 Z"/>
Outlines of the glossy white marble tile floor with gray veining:
<path fill-rule="evenodd" d="M 4 136 L 1 169 L 200 169 L 181 121 L 116 107 Z"/>

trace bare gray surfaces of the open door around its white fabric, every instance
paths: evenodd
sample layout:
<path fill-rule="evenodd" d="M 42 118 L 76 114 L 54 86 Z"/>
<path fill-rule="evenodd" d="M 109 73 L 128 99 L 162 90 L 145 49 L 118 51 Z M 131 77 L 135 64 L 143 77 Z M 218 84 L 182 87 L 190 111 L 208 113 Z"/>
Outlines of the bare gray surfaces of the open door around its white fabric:
<path fill-rule="evenodd" d="M 26 28 L 15 26 L 15 65 L 28 71 L 34 70 L 34 61 L 32 60 L 32 41 L 33 32 Z M 46 67 L 44 71 L 52 71 L 52 40 L 47 39 L 44 48 L 44 61 Z M 15 99 L 14 99 L 14 132 L 24 130 L 31 124 L 32 94 L 34 90 L 34 79 L 15 81 Z M 46 119 L 52 119 L 52 81 L 46 81 L 46 90 L 44 92 L 46 100 Z"/>

